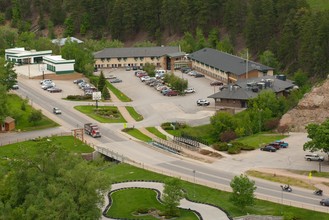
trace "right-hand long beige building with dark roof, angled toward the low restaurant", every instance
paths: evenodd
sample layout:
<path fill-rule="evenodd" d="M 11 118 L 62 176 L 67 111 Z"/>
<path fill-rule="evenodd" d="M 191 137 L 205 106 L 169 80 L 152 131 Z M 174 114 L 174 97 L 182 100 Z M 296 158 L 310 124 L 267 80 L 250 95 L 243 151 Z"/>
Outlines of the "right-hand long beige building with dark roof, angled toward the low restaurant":
<path fill-rule="evenodd" d="M 224 83 L 273 76 L 273 68 L 232 54 L 204 48 L 187 56 L 192 68 Z"/>

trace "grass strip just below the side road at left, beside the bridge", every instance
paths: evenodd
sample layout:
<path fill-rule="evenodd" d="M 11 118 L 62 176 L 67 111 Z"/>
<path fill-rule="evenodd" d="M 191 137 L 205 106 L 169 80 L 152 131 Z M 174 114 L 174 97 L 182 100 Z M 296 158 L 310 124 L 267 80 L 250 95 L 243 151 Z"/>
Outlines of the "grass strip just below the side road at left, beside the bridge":
<path fill-rule="evenodd" d="M 94 151 L 89 145 L 83 143 L 79 139 L 75 139 L 73 136 L 53 136 L 46 138 L 49 143 L 54 145 L 63 146 L 65 150 L 72 153 L 91 153 Z M 15 144 L 8 144 L 0 147 L 0 157 L 13 158 L 19 151 L 24 149 L 31 155 L 37 152 L 40 140 L 29 140 L 18 142 Z"/>

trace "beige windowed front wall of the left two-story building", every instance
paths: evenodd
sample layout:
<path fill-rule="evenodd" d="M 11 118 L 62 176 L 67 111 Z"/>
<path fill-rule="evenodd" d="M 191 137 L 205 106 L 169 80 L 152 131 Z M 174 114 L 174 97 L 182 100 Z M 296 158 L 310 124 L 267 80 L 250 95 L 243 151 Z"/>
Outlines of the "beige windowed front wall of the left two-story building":
<path fill-rule="evenodd" d="M 145 66 L 146 63 L 153 64 L 157 68 L 167 69 L 166 57 L 127 57 L 127 58 L 103 58 L 95 59 L 97 68 L 124 68 L 126 66 Z"/>

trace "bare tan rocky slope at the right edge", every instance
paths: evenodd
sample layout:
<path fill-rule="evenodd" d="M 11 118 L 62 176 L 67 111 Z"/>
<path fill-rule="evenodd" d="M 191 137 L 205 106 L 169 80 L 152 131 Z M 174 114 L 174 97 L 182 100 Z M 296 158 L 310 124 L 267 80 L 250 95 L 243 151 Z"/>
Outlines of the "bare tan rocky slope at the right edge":
<path fill-rule="evenodd" d="M 309 123 L 320 124 L 329 118 L 329 79 L 304 95 L 298 105 L 283 115 L 280 125 L 288 125 L 290 131 L 305 132 Z"/>

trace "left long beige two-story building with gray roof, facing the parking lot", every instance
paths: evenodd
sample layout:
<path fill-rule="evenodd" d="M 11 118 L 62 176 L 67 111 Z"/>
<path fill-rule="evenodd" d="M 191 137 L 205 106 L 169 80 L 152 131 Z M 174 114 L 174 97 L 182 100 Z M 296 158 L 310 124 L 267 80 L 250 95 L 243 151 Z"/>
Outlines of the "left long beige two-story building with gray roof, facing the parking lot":
<path fill-rule="evenodd" d="M 157 68 L 170 70 L 173 68 L 173 60 L 178 59 L 179 47 L 126 47 L 106 48 L 94 53 L 95 68 L 125 68 L 143 67 L 146 63 L 153 64 Z M 173 55 L 173 56 L 171 56 Z"/>

